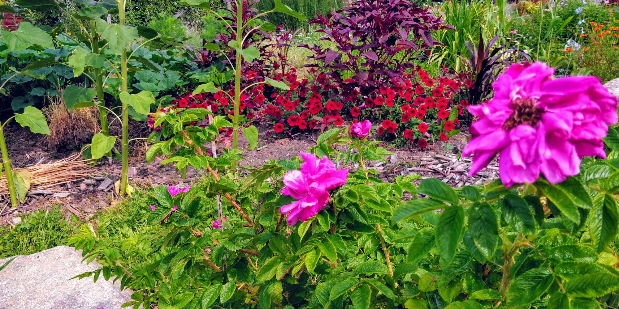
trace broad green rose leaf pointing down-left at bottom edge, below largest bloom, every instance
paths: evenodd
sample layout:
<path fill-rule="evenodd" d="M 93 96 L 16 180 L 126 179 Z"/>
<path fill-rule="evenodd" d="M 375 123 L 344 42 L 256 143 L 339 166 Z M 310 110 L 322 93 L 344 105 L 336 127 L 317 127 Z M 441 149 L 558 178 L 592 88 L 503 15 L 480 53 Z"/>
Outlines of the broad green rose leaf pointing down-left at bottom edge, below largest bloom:
<path fill-rule="evenodd" d="M 548 290 L 555 276 L 544 267 L 529 269 L 511 283 L 507 292 L 509 307 L 520 307 L 538 300 Z"/>

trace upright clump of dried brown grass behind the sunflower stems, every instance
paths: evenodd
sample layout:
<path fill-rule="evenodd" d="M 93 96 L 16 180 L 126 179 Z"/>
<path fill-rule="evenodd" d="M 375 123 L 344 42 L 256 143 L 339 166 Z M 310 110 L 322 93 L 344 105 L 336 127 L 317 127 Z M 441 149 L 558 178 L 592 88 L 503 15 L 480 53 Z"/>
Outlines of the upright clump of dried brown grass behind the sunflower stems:
<path fill-rule="evenodd" d="M 62 96 L 50 96 L 50 105 L 43 112 L 50 122 L 50 135 L 46 138 L 50 151 L 67 146 L 79 147 L 92 138 L 99 129 L 94 107 L 67 109 Z"/>

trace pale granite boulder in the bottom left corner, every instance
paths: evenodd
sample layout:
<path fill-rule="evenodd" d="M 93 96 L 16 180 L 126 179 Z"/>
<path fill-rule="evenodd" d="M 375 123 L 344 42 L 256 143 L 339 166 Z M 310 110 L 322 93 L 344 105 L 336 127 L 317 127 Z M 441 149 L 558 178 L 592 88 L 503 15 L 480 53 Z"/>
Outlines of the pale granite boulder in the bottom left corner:
<path fill-rule="evenodd" d="M 81 250 L 66 246 L 17 256 L 0 271 L 0 309 L 120 309 L 130 302 L 132 292 L 121 291 L 119 281 L 71 279 L 98 268 L 97 262 L 82 263 Z"/>

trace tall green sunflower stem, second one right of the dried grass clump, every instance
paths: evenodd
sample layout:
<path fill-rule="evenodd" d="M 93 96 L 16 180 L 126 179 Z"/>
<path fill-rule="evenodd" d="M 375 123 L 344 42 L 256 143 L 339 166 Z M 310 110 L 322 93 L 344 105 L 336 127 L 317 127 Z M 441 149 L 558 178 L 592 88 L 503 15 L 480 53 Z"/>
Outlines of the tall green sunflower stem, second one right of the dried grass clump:
<path fill-rule="evenodd" d="M 124 0 L 118 0 L 118 24 L 124 26 Z M 123 82 L 123 91 L 129 91 L 128 85 L 128 66 L 127 52 L 121 54 L 121 80 Z M 121 171 L 120 194 L 124 195 L 127 192 L 129 185 L 129 104 L 123 102 L 123 169 Z"/>

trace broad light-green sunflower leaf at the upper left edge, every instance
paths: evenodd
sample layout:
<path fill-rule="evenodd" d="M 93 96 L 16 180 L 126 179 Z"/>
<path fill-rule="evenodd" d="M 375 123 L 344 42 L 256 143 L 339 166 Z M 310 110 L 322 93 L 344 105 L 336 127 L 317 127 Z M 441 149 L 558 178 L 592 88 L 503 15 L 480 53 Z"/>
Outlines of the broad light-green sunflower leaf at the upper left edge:
<path fill-rule="evenodd" d="M 54 45 L 51 43 L 51 35 L 29 22 L 19 23 L 19 28 L 15 31 L 2 29 L 0 34 L 9 45 L 11 51 L 24 51 L 33 45 L 54 48 Z"/>

